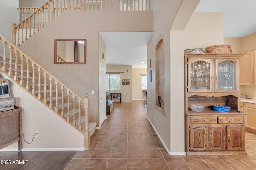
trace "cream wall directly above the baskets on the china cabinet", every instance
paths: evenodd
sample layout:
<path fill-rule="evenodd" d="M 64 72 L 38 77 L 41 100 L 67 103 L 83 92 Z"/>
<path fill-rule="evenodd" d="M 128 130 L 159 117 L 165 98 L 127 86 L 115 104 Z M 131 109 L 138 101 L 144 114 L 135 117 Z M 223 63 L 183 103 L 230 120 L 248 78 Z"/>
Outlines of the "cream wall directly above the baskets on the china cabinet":
<path fill-rule="evenodd" d="M 223 44 L 223 19 L 220 12 L 194 12 L 184 30 L 184 49 Z"/>

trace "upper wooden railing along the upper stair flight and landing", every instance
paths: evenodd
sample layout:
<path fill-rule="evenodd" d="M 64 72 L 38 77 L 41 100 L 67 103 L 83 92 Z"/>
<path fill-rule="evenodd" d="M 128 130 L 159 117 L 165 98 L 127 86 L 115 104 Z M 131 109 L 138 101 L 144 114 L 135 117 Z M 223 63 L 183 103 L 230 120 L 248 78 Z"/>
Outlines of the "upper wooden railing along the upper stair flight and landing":
<path fill-rule="evenodd" d="M 146 11 L 151 0 L 48 0 L 39 8 L 18 8 L 20 23 L 12 23 L 12 43 L 20 46 L 66 10 Z"/>

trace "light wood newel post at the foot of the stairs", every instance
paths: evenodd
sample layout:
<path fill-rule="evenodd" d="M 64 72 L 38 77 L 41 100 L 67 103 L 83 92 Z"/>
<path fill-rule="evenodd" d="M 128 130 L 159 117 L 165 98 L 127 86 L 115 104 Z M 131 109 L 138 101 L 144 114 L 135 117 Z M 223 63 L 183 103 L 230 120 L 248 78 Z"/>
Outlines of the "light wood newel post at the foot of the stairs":
<path fill-rule="evenodd" d="M 84 94 L 84 112 L 85 112 L 85 131 L 84 131 L 84 148 L 85 150 L 90 149 L 90 132 L 89 132 L 89 107 L 90 99 L 89 94 Z"/>

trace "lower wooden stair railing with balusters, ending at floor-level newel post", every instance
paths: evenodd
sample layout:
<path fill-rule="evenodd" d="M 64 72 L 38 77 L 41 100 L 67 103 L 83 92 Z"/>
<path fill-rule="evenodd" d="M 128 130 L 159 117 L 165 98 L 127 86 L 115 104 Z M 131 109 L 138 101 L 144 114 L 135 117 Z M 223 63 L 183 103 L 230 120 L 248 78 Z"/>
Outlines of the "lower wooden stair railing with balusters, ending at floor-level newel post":
<path fill-rule="evenodd" d="M 84 147 L 90 149 L 88 94 L 85 94 L 85 98 L 80 97 L 2 35 L 1 40 L 0 72 L 84 134 Z"/>

